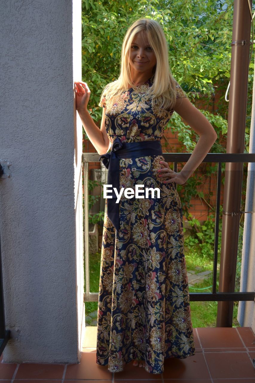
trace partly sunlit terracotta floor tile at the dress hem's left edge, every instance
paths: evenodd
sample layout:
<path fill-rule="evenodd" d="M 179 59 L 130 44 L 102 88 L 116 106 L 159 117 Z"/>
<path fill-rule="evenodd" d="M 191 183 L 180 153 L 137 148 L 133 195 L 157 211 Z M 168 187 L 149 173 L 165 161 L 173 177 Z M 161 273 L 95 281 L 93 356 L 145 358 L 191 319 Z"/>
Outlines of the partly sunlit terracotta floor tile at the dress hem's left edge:
<path fill-rule="evenodd" d="M 108 366 L 96 363 L 95 352 L 82 352 L 80 363 L 68 364 L 65 379 L 106 379 L 111 380 L 113 374 Z"/>

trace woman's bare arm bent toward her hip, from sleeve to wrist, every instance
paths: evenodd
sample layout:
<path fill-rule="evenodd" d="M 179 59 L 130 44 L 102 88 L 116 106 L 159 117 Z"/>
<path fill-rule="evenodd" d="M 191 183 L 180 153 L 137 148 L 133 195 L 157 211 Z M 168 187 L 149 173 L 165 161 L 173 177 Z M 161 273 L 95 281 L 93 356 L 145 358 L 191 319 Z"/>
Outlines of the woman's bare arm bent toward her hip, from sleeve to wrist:
<path fill-rule="evenodd" d="M 185 122 L 199 135 L 198 142 L 186 162 L 181 169 L 186 180 L 203 162 L 212 145 L 217 139 L 217 133 L 208 119 L 199 111 L 188 98 L 177 98 L 174 110 L 180 115 Z"/>

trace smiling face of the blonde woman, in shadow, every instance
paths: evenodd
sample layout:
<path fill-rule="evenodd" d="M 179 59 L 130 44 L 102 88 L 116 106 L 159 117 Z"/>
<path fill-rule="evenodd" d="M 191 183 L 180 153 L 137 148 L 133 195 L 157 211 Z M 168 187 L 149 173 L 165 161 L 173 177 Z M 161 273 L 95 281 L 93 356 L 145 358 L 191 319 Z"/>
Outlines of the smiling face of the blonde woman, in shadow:
<path fill-rule="evenodd" d="M 156 56 L 152 51 L 152 47 L 150 47 L 146 34 L 142 38 L 142 34 L 137 33 L 130 47 L 129 64 L 131 65 L 131 73 L 148 72 L 148 74 L 151 74 L 156 62 Z"/>

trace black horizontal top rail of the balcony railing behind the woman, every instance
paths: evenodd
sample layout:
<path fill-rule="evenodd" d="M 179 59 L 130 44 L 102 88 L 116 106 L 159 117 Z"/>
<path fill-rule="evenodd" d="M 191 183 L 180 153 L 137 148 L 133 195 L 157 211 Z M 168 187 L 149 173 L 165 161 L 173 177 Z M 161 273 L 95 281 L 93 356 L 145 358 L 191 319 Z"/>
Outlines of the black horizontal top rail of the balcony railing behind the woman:
<path fill-rule="evenodd" d="M 187 162 L 192 153 L 163 153 L 167 162 Z M 82 153 L 83 162 L 99 162 L 98 153 Z M 208 153 L 202 162 L 255 162 L 255 153 Z"/>

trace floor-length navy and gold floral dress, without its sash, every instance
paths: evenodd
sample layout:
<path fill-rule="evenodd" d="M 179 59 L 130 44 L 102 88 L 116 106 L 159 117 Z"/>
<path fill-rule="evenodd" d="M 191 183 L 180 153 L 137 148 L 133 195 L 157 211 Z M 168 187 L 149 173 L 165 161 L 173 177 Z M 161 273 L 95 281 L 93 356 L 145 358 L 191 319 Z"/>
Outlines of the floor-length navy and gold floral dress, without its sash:
<path fill-rule="evenodd" d="M 108 110 L 105 127 L 111 142 L 160 140 L 173 109 L 152 107 L 146 92 L 151 79 L 129 88 Z M 177 98 L 187 97 L 176 82 Z M 119 231 L 107 216 L 103 225 L 97 315 L 96 363 L 123 371 L 133 359 L 160 374 L 164 360 L 195 355 L 190 297 L 183 250 L 181 201 L 173 183 L 163 183 L 162 155 L 119 159 L 120 189 L 159 188 L 160 198 L 119 201 Z"/>

